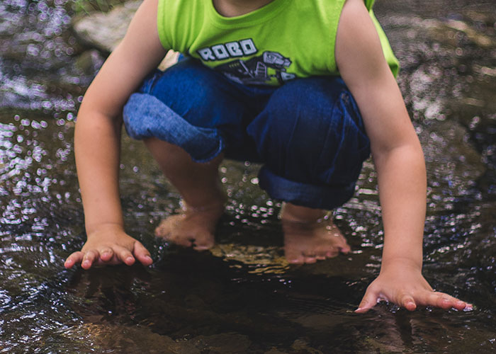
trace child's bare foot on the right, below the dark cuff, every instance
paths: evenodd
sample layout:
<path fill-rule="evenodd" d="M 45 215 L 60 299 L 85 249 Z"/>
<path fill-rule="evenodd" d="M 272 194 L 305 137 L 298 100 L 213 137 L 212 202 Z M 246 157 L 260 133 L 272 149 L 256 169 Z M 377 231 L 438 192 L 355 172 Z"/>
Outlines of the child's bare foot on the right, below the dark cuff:
<path fill-rule="evenodd" d="M 351 251 L 346 239 L 329 215 L 317 219 L 300 219 L 285 205 L 281 212 L 284 253 L 289 263 L 315 263 Z M 300 208 L 300 207 L 298 207 Z M 296 214 L 298 215 L 298 214 Z"/>

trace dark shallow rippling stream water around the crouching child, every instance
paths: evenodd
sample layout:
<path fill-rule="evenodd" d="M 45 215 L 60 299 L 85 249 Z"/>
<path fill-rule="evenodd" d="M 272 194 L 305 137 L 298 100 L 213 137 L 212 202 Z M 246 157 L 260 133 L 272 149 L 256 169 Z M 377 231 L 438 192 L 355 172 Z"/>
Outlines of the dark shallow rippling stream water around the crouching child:
<path fill-rule="evenodd" d="M 101 64 L 69 31 L 66 0 L 0 4 L 0 353 L 492 353 L 496 350 L 496 15 L 492 1 L 378 1 L 424 145 L 424 275 L 472 312 L 388 304 L 356 315 L 381 261 L 375 172 L 335 211 L 354 249 L 283 261 L 280 205 L 257 166 L 226 162 L 231 196 L 211 252 L 154 239 L 179 207 L 141 144 L 123 139 L 126 228 L 143 268 L 64 270 L 84 244 L 74 117 Z M 465 25 L 465 27 L 463 27 Z M 86 61 L 81 64 L 81 57 Z"/>

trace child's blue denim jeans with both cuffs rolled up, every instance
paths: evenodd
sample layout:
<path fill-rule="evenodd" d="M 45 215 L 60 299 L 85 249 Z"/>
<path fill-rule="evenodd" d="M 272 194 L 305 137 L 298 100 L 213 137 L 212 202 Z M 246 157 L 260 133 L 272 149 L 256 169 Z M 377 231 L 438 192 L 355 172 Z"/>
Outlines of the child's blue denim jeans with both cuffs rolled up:
<path fill-rule="evenodd" d="M 130 137 L 176 144 L 193 161 L 224 152 L 264 164 L 271 198 L 331 210 L 354 194 L 370 142 L 354 98 L 339 77 L 244 86 L 184 59 L 152 72 L 124 107 Z"/>

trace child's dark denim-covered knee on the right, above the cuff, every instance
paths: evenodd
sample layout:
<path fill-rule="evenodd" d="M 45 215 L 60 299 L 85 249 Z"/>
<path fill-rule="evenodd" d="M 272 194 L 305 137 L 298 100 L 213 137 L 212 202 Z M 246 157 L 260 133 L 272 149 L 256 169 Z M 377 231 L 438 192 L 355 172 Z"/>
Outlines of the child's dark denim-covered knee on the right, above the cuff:
<path fill-rule="evenodd" d="M 340 80 L 288 84 L 249 126 L 274 173 L 309 183 L 349 183 L 370 153 L 356 103 Z"/>

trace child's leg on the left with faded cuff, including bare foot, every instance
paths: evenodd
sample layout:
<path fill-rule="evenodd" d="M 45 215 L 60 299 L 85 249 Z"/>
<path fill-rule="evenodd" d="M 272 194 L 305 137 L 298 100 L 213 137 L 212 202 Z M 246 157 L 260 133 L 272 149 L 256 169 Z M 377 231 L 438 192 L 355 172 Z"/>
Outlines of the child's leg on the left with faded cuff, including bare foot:
<path fill-rule="evenodd" d="M 196 249 L 213 246 L 226 199 L 218 166 L 226 147 L 228 153 L 244 146 L 241 121 L 251 110 L 244 96 L 221 74 L 184 60 L 150 75 L 126 103 L 128 134 L 144 139 L 185 204 L 184 212 L 159 224 L 157 236 Z"/>

